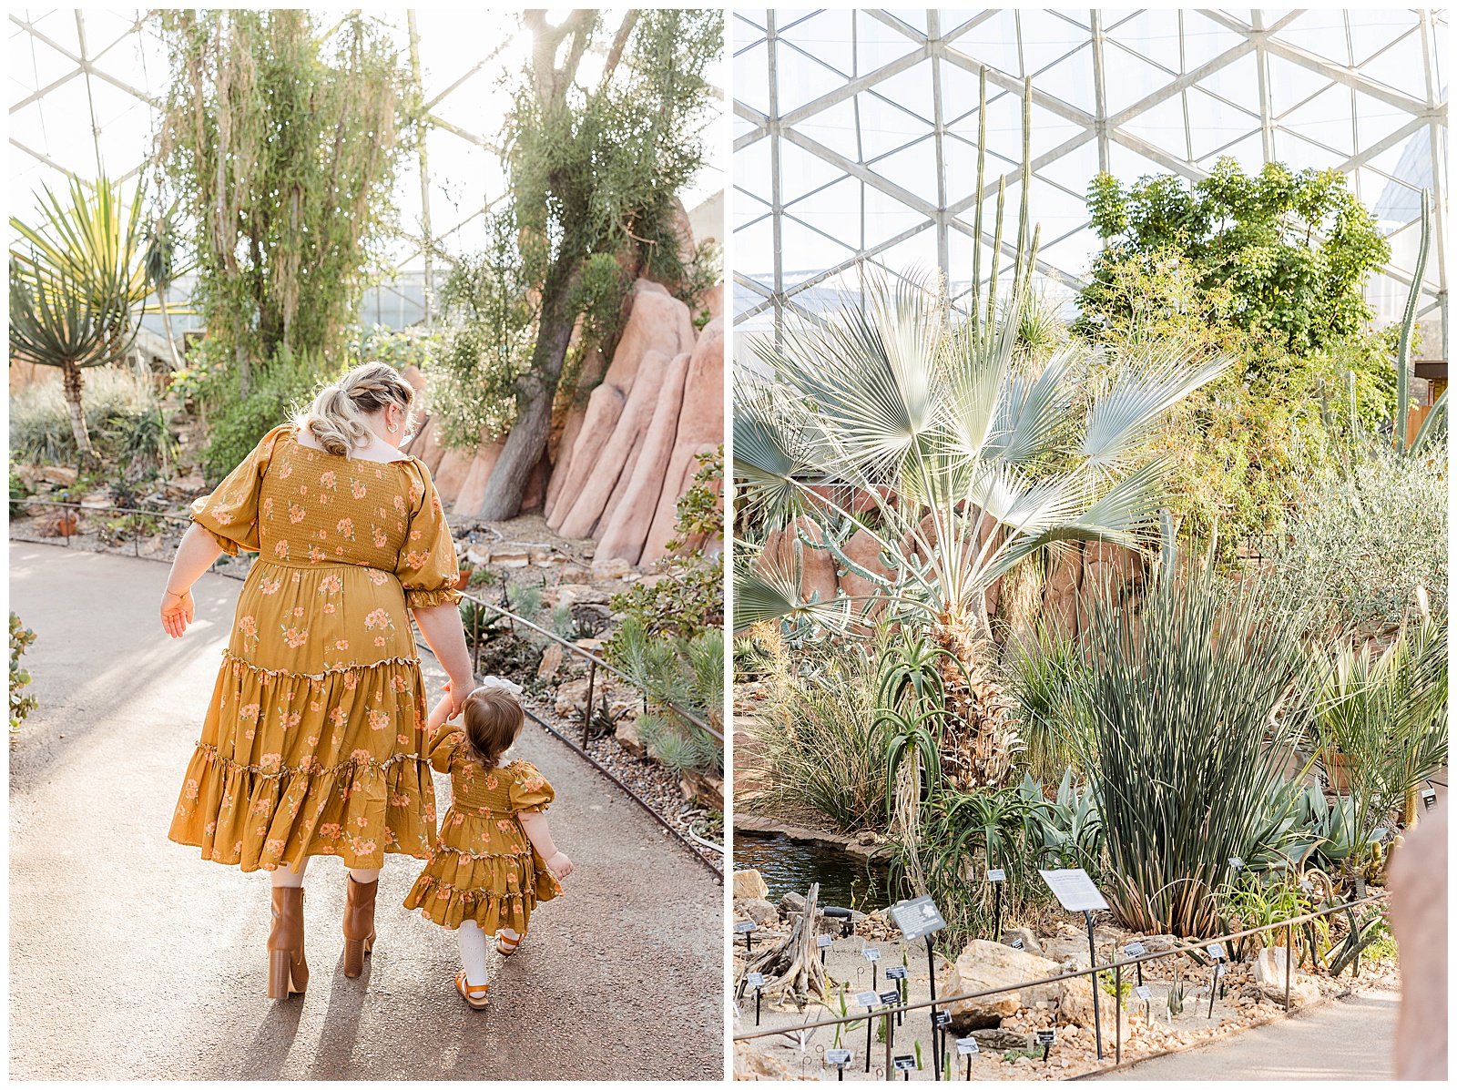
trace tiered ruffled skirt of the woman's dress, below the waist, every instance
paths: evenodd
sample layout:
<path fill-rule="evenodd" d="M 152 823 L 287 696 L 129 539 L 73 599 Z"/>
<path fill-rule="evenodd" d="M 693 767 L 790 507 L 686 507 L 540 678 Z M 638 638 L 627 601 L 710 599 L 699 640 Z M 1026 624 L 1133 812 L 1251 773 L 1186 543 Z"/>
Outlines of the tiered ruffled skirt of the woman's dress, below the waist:
<path fill-rule="evenodd" d="M 170 839 L 243 870 L 428 858 L 425 691 L 399 581 L 254 562 Z"/>

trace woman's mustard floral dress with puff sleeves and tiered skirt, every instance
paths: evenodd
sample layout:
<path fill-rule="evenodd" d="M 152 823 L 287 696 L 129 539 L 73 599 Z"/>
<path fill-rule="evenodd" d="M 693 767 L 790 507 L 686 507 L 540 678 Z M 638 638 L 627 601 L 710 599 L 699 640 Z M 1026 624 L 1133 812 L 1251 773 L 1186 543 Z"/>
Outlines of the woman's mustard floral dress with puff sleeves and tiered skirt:
<path fill-rule="evenodd" d="M 192 520 L 258 558 L 169 836 L 243 870 L 428 857 L 436 794 L 407 611 L 460 599 L 430 471 L 315 450 L 284 424 Z"/>

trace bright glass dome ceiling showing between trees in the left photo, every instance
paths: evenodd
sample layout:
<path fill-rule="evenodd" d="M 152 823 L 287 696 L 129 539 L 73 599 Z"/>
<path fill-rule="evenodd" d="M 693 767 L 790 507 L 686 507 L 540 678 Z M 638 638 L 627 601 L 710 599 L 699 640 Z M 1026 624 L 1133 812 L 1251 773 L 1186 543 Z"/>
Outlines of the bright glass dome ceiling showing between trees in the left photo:
<path fill-rule="evenodd" d="M 616 26 L 622 15 L 603 10 L 603 20 Z M 366 321 L 373 309 L 374 318 L 398 326 L 423 316 L 420 242 L 427 201 L 431 238 L 447 252 L 485 242 L 482 213 L 506 192 L 497 140 L 530 35 L 516 12 L 485 7 L 420 9 L 408 16 L 366 10 L 366 16 L 398 41 L 405 58 L 412 17 L 430 109 L 428 181 L 421 185 L 418 156 L 401 162 L 395 203 L 402 235 L 389 249 L 396 275 L 366 299 Z M 600 73 L 605 55 L 603 44 L 583 58 L 584 80 Z M 70 173 L 93 179 L 103 168 L 114 178 L 136 178 L 152 153 L 168 76 L 166 48 L 150 12 L 10 9 L 12 213 L 25 219 L 41 185 L 55 189 Z M 708 79 L 723 86 L 721 66 Z M 705 128 L 708 165 L 682 194 L 689 210 L 724 188 L 723 124 L 720 114 Z M 181 287 L 186 290 L 185 278 Z"/>

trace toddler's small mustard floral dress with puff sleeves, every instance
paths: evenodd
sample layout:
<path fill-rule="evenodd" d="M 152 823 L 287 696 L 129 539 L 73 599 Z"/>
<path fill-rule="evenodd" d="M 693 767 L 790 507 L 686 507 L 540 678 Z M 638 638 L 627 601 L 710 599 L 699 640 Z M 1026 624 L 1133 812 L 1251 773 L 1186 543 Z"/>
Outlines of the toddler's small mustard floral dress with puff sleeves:
<path fill-rule="evenodd" d="M 551 804 L 551 784 L 526 761 L 487 771 L 465 734 L 449 726 L 440 729 L 430 761 L 450 772 L 450 809 L 405 908 L 450 930 L 474 920 L 487 934 L 503 927 L 526 934 L 536 905 L 561 893 L 519 819 Z"/>

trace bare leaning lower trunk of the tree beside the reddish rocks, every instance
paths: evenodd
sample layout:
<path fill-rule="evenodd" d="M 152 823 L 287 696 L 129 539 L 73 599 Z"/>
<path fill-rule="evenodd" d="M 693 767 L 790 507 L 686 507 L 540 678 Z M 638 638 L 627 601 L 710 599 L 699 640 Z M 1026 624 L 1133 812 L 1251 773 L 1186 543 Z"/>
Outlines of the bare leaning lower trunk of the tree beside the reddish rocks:
<path fill-rule="evenodd" d="M 526 484 L 546 450 L 557 383 L 561 380 L 567 345 L 571 344 L 571 329 L 577 321 L 570 303 L 577 272 L 574 268 L 564 270 L 568 262 L 577 264 L 576 259 L 559 258 L 546 278 L 532 366 L 516 382 L 516 423 L 511 424 L 511 433 L 506 437 L 491 479 L 487 481 L 476 519 L 495 522 L 520 514 Z"/>

